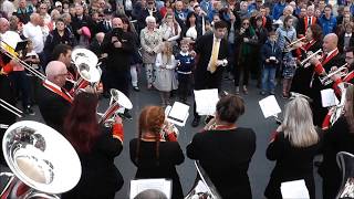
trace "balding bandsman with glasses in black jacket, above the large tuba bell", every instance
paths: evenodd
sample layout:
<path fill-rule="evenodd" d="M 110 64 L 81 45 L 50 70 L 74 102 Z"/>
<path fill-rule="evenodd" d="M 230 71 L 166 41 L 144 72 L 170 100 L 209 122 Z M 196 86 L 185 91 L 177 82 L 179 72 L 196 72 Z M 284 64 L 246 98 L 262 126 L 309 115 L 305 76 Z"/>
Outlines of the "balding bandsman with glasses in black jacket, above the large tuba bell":
<path fill-rule="evenodd" d="M 64 63 L 52 61 L 45 67 L 46 80 L 41 87 L 39 107 L 46 125 L 63 133 L 63 123 L 71 107 L 72 98 L 62 88 L 65 85 L 67 70 Z"/>

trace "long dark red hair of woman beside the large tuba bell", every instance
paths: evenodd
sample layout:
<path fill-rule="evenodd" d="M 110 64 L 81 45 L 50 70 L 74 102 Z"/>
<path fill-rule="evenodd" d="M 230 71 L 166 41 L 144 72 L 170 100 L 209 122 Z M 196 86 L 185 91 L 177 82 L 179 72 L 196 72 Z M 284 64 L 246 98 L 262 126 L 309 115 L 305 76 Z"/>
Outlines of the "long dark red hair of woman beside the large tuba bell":
<path fill-rule="evenodd" d="M 64 119 L 64 136 L 79 153 L 90 153 L 101 135 L 97 104 L 97 95 L 79 93 Z"/>

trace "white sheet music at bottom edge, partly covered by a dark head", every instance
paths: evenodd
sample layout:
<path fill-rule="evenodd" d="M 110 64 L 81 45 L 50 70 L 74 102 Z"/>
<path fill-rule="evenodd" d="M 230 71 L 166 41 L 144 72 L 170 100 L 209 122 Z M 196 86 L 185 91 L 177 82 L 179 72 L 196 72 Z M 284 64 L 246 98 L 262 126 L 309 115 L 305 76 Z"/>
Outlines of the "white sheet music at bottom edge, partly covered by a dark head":
<path fill-rule="evenodd" d="M 134 197 L 136 197 L 136 195 L 146 189 L 156 189 L 163 191 L 167 196 L 167 198 L 170 199 L 171 180 L 167 180 L 164 178 L 131 180 L 129 199 L 133 199 Z"/>

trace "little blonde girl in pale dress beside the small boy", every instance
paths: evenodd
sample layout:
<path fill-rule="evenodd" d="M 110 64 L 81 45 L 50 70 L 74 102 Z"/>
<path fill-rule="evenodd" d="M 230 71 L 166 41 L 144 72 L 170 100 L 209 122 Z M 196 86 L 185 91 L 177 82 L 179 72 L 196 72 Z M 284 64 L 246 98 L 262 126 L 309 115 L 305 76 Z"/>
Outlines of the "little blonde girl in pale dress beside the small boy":
<path fill-rule="evenodd" d="M 175 74 L 176 60 L 173 55 L 173 46 L 170 42 L 163 44 L 163 50 L 156 56 L 156 80 L 154 86 L 160 92 L 163 106 L 169 104 L 170 91 L 177 90 L 178 83 Z"/>

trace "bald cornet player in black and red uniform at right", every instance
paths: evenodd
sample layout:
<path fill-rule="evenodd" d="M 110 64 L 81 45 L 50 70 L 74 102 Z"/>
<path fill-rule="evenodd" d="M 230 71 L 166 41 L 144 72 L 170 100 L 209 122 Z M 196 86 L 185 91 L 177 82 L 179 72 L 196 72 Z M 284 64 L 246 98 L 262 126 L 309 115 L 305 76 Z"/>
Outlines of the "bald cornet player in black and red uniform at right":
<path fill-rule="evenodd" d="M 330 85 L 322 85 L 320 82 L 321 76 L 325 76 L 330 73 L 332 66 L 342 66 L 345 63 L 344 57 L 340 54 L 337 49 L 339 38 L 334 33 L 330 33 L 323 39 L 323 52 L 322 61 L 313 57 L 310 63 L 314 66 L 313 78 L 311 81 L 311 98 L 313 100 L 313 123 L 314 125 L 322 126 L 323 119 L 327 114 L 327 108 L 322 106 L 321 91 L 332 87 Z"/>

